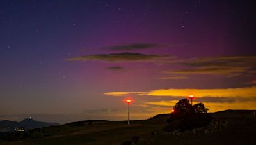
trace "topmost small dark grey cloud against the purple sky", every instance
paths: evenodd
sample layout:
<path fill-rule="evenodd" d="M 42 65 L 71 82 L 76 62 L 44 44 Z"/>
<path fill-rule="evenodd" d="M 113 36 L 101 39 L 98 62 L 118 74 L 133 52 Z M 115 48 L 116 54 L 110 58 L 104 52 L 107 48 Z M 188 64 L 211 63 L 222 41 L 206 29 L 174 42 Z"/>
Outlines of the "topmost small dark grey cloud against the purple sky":
<path fill-rule="evenodd" d="M 154 43 L 131 43 L 128 45 L 116 45 L 116 46 L 106 46 L 102 47 L 105 50 L 113 50 L 113 51 L 132 51 L 132 50 L 143 50 L 148 48 L 154 48 L 159 46 Z"/>

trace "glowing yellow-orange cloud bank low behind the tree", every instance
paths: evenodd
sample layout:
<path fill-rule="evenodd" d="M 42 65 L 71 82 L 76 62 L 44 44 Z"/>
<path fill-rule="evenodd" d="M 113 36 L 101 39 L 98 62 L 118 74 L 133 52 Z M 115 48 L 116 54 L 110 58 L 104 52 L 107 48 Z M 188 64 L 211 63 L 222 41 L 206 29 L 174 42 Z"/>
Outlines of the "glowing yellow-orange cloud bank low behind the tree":
<path fill-rule="evenodd" d="M 126 97 L 131 95 L 133 106 L 154 113 L 170 113 L 170 109 L 182 98 L 195 95 L 194 102 L 204 102 L 209 111 L 225 109 L 256 109 L 256 86 L 244 88 L 170 88 L 150 90 L 147 92 L 108 92 L 105 95 Z M 144 109 L 143 109 L 144 108 Z"/>

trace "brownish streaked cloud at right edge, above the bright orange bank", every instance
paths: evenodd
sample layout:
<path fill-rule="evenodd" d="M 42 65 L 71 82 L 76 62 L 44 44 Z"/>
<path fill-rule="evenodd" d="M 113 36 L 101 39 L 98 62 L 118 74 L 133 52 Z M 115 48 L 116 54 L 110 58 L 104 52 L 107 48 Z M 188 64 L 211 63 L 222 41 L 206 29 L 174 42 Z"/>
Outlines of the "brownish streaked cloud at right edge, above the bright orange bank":
<path fill-rule="evenodd" d="M 177 71 L 164 71 L 165 74 L 216 75 L 234 77 L 242 74 L 256 74 L 256 56 L 226 56 L 180 59 L 172 62 L 189 67 Z"/>

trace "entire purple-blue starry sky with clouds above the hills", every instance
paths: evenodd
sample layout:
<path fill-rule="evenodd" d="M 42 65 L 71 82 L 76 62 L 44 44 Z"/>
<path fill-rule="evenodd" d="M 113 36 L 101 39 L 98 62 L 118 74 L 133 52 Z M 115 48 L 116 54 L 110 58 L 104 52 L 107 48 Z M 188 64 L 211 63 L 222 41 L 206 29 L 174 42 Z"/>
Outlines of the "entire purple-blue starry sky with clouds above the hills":
<path fill-rule="evenodd" d="M 256 109 L 255 1 L 0 1 L 0 120 Z"/>

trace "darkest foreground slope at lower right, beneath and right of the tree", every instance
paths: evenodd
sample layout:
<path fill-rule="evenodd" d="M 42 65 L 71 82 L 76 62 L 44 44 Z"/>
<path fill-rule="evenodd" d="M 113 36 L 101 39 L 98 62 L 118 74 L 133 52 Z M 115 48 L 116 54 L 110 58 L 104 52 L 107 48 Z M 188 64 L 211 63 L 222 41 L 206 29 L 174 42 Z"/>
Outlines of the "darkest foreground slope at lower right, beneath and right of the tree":
<path fill-rule="evenodd" d="M 254 111 L 227 110 L 211 113 L 207 127 L 186 132 L 159 132 L 140 144 L 256 144 Z"/>

